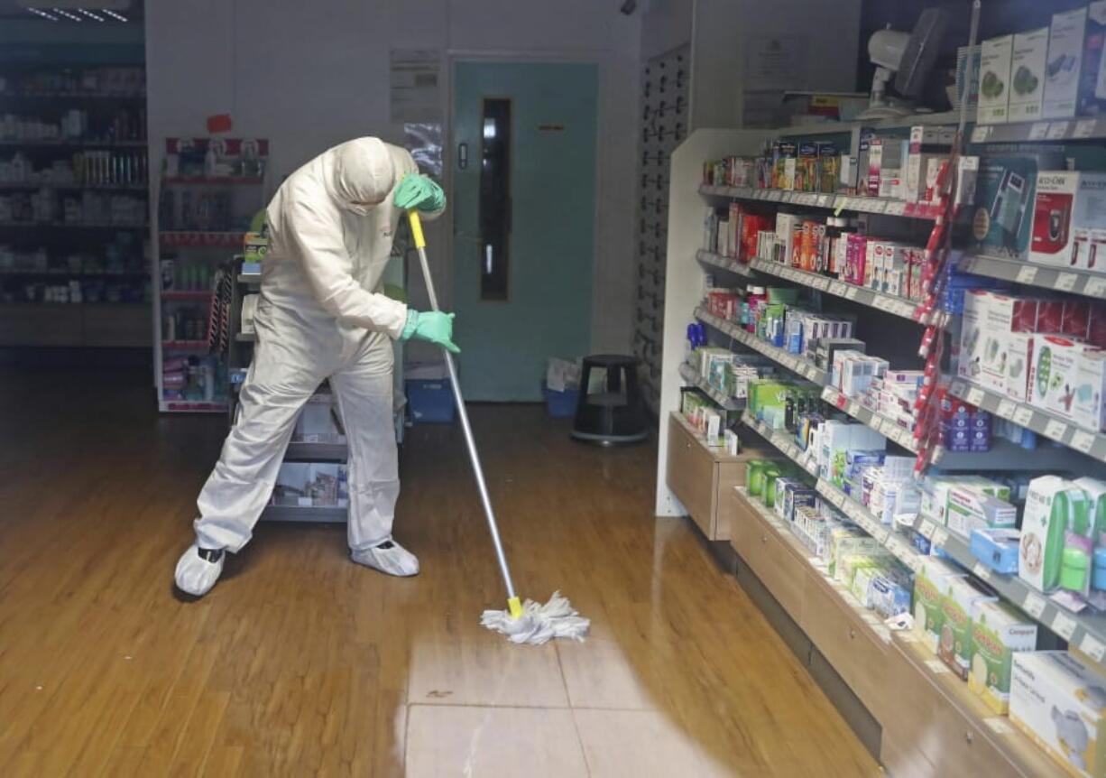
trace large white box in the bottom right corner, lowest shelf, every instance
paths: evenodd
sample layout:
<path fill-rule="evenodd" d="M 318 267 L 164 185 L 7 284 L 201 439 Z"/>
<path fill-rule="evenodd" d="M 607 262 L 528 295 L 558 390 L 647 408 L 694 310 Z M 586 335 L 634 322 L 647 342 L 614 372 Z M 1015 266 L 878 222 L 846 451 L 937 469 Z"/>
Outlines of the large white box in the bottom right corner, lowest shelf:
<path fill-rule="evenodd" d="M 1013 655 L 1010 720 L 1073 776 L 1106 777 L 1106 676 L 1066 651 Z"/>

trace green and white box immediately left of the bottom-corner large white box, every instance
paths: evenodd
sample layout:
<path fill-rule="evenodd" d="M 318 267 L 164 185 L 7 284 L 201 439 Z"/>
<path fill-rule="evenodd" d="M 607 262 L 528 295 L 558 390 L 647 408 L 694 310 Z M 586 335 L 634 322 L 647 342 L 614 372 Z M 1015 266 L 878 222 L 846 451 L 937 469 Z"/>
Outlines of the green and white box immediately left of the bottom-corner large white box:
<path fill-rule="evenodd" d="M 1010 709 L 1014 654 L 1036 647 L 1036 624 L 1013 608 L 979 600 L 971 614 L 971 672 L 968 688 L 1000 716 Z"/>

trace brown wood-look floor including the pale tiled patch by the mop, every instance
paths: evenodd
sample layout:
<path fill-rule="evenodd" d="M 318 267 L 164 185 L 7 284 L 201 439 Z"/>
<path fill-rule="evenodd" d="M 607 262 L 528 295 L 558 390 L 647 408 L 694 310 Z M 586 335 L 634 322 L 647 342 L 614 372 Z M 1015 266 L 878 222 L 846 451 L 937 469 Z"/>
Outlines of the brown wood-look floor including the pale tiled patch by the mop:
<path fill-rule="evenodd" d="M 867 776 L 876 764 L 685 520 L 651 446 L 575 445 L 536 407 L 473 424 L 522 593 L 583 644 L 514 646 L 458 431 L 411 431 L 397 537 L 261 525 L 201 601 L 173 590 L 222 419 L 146 375 L 0 369 L 2 776 Z"/>

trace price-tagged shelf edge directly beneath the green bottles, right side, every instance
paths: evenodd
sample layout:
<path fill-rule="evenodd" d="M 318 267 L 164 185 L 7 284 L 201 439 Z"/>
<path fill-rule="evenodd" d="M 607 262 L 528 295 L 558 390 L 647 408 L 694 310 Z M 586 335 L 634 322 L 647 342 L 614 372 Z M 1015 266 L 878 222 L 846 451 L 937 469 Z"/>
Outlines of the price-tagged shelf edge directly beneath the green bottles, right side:
<path fill-rule="evenodd" d="M 1099 664 L 1106 655 L 1106 615 L 1082 615 L 1061 608 L 1018 575 L 1003 575 L 977 560 L 968 540 L 929 519 L 918 517 L 915 529 L 962 567 L 990 584 L 1004 600 L 1018 605 Z"/>

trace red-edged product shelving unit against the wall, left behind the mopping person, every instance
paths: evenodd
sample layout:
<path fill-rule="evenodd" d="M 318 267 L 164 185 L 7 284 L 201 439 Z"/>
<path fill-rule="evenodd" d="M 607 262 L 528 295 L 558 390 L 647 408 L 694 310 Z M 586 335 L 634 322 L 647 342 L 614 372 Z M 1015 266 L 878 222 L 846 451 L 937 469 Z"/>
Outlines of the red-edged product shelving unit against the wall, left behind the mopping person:
<path fill-rule="evenodd" d="M 219 263 L 240 249 L 265 204 L 269 143 L 243 138 L 167 138 L 158 181 L 157 262 L 154 266 L 154 378 L 163 413 L 227 413 L 226 364 L 205 354 L 212 283 Z M 234 339 L 231 339 L 234 340 Z M 179 357 L 218 373 L 215 393 L 165 385 L 165 367 Z M 189 375 L 194 367 L 188 367 Z M 208 395 L 211 396 L 208 396 Z"/>

